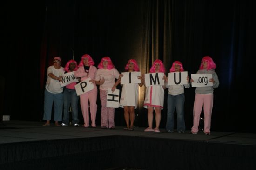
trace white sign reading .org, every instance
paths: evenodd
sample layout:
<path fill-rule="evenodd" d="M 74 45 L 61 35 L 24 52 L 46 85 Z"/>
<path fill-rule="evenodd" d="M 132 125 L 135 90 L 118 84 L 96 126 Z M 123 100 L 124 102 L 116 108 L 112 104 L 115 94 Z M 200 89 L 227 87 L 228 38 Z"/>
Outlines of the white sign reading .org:
<path fill-rule="evenodd" d="M 212 74 L 191 74 L 191 79 L 194 82 L 191 82 L 192 87 L 205 87 L 212 86 L 212 82 L 209 82 L 209 79 L 212 78 Z"/>

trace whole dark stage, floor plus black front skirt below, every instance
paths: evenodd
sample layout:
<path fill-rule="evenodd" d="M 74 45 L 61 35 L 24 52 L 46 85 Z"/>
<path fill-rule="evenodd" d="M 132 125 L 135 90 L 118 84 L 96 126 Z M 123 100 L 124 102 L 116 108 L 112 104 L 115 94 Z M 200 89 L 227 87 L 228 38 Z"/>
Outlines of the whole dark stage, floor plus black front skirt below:
<path fill-rule="evenodd" d="M 142 127 L 129 132 L 122 127 L 7 127 L 0 129 L 0 170 L 256 170 L 255 134 L 212 132 L 206 137 L 163 129 L 148 133 Z M 62 139 L 56 139 L 58 134 Z M 12 135 L 16 142 L 7 141 L 14 140 Z"/>

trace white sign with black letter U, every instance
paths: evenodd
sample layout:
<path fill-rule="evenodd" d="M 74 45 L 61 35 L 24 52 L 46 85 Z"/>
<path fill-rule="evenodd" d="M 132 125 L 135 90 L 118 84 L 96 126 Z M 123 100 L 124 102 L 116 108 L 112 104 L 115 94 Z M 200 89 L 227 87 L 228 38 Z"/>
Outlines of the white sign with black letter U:
<path fill-rule="evenodd" d="M 167 85 L 170 86 L 188 84 L 187 76 L 187 71 L 168 73 Z"/>

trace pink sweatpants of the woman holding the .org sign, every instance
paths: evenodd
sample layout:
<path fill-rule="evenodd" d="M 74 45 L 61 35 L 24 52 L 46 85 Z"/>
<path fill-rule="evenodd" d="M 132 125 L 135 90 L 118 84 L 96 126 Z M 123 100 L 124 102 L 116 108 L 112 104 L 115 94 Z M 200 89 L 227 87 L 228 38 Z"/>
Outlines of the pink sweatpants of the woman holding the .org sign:
<path fill-rule="evenodd" d="M 204 130 L 203 132 L 210 132 L 211 128 L 211 115 L 212 115 L 212 107 L 213 107 L 213 94 L 195 94 L 194 101 L 194 119 L 193 119 L 193 127 L 191 131 L 198 132 L 200 115 L 204 112 Z"/>

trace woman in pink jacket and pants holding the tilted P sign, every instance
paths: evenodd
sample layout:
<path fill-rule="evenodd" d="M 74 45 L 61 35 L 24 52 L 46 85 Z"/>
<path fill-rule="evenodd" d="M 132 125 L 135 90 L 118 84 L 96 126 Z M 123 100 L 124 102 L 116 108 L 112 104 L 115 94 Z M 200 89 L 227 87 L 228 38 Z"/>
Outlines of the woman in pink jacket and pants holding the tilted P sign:
<path fill-rule="evenodd" d="M 97 113 L 97 93 L 98 89 L 95 84 L 95 75 L 97 68 L 94 66 L 94 60 L 88 54 L 84 54 L 81 57 L 81 61 L 78 65 L 77 71 L 74 76 L 81 77 L 81 82 L 87 78 L 91 78 L 89 82 L 93 83 L 94 89 L 80 95 L 80 105 L 82 115 L 84 119 L 84 125 L 82 127 L 89 127 L 89 102 L 90 102 L 90 113 L 91 113 L 91 127 L 96 128 L 96 113 Z"/>

